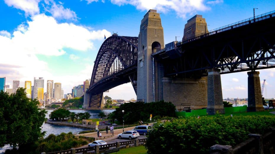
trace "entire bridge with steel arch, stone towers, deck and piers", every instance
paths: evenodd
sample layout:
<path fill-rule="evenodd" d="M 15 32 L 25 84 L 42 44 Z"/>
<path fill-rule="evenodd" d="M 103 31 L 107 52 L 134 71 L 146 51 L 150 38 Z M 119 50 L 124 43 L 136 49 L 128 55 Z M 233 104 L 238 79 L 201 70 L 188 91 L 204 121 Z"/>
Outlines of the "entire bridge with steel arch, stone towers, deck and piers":
<path fill-rule="evenodd" d="M 275 67 L 274 23 L 271 11 L 208 31 L 206 20 L 195 15 L 181 41 L 164 45 L 160 14 L 149 10 L 138 37 L 113 34 L 103 42 L 83 107 L 103 107 L 103 92 L 131 82 L 137 101 L 223 113 L 220 74 L 249 71 L 248 111 L 263 110 L 256 70 Z"/>

